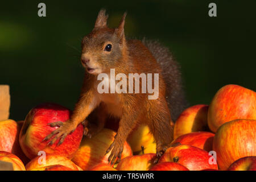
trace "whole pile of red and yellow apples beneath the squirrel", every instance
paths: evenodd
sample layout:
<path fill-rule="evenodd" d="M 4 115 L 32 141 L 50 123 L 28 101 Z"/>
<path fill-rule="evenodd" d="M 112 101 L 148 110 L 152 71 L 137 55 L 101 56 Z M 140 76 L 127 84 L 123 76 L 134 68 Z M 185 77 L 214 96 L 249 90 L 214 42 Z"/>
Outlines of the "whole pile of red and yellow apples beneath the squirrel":
<path fill-rule="evenodd" d="M 109 121 L 92 138 L 83 137 L 80 124 L 57 146 L 43 140 L 65 122 L 72 111 L 57 104 L 41 104 L 24 121 L 0 121 L 0 162 L 20 171 L 210 171 L 256 170 L 256 93 L 226 85 L 210 105 L 191 106 L 174 125 L 174 140 L 154 164 L 156 143 L 146 125 L 137 126 L 124 144 L 121 161 L 108 164 L 105 152 L 114 141 L 118 122 Z"/>

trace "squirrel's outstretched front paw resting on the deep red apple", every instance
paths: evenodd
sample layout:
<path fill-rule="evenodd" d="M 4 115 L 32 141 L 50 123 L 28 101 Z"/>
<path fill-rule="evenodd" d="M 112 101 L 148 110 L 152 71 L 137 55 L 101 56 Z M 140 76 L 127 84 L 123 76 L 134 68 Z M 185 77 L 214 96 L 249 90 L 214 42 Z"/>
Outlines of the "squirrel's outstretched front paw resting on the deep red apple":
<path fill-rule="evenodd" d="M 58 122 L 48 123 L 48 125 L 51 127 L 59 126 L 58 129 L 52 131 L 51 134 L 47 135 L 47 137 L 43 139 L 43 141 L 49 140 L 49 142 L 47 143 L 48 145 L 52 145 L 53 143 L 56 142 L 57 139 L 60 139 L 59 143 L 57 144 L 57 146 L 59 146 L 61 143 L 64 142 L 64 139 L 67 137 L 67 135 L 69 133 L 72 133 L 76 129 L 76 128 L 74 129 L 72 124 L 69 123 L 68 121 L 67 122 L 58 121 Z M 53 135 L 55 135 L 55 137 L 53 137 Z"/>

